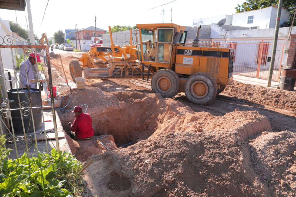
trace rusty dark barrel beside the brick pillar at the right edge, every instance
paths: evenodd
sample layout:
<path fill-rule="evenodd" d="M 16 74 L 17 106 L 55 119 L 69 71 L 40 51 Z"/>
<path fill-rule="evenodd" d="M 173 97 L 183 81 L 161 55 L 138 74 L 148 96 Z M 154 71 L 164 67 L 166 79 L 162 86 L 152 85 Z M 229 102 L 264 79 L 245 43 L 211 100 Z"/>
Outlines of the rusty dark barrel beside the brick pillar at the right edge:
<path fill-rule="evenodd" d="M 296 69 L 283 69 L 279 87 L 283 90 L 293 91 L 296 82 Z"/>

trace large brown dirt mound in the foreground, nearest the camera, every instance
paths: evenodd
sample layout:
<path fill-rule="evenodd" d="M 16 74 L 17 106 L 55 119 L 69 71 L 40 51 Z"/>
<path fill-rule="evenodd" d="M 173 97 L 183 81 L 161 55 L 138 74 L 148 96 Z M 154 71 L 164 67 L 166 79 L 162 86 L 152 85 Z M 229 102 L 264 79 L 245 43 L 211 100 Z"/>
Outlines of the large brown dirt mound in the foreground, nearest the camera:
<path fill-rule="evenodd" d="M 295 133 L 181 132 L 91 156 L 93 196 L 293 196 Z M 254 141 L 253 141 L 254 140 Z"/>

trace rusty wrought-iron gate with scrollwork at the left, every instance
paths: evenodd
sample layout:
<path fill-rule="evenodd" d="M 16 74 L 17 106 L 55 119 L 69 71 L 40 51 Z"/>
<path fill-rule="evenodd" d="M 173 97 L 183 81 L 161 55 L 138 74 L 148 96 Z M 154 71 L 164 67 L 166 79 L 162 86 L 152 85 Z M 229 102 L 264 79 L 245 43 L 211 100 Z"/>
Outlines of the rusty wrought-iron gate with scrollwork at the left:
<path fill-rule="evenodd" d="M 6 35 L 3 38 L 0 36 L 0 132 L 1 135 L 7 136 L 6 146 L 14 148 L 15 151 L 13 152 L 15 152 L 15 157 L 18 158 L 24 152 L 29 155 L 29 153 L 44 151 L 41 150 L 41 147 L 46 147 L 47 152 L 50 151 L 46 135 L 48 132 L 52 132 L 52 130 L 45 128 L 44 124 L 44 108 L 41 102 L 42 87 L 46 85 L 49 87 L 52 104 L 54 103 L 54 94 L 52 90 L 49 46 L 44 46 L 44 41 L 42 40 L 40 40 L 42 45 L 13 45 L 14 41 L 15 38 L 10 35 Z M 46 51 L 46 58 L 42 63 L 36 62 L 35 67 L 34 64 L 29 63 L 29 55 L 35 53 L 33 58 L 37 60 L 36 54 L 38 53 L 40 58 L 43 59 L 42 49 Z M 19 51 L 22 51 L 22 53 L 20 54 Z M 22 60 L 24 60 L 25 64 L 28 63 L 27 66 L 24 66 L 24 64 L 21 66 L 21 70 L 25 71 L 25 74 L 19 68 Z M 46 60 L 47 66 L 45 65 Z M 39 69 L 41 71 L 38 72 Z M 48 79 L 41 77 L 43 70 L 48 71 Z M 30 76 L 29 72 L 33 72 L 34 76 Z M 20 83 L 31 83 L 32 86 L 36 85 L 36 89 L 25 88 Z M 14 100 L 11 100 L 11 96 L 9 96 L 11 93 L 15 95 Z M 59 151 L 54 105 L 52 105 L 51 110 L 56 141 L 55 147 Z M 34 116 L 36 113 L 38 115 Z M 45 141 L 37 143 L 37 135 L 44 135 Z M 33 138 L 35 138 L 35 141 L 33 141 Z"/>

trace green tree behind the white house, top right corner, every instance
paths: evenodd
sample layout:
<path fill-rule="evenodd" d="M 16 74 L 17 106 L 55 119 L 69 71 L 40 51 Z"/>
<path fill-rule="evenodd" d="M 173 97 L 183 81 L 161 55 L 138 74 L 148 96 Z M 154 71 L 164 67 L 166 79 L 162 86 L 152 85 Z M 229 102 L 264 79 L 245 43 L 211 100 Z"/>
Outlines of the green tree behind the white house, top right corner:
<path fill-rule="evenodd" d="M 290 26 L 293 20 L 293 15 L 295 11 L 295 5 L 296 5 L 296 0 L 285 0 L 283 1 L 282 7 L 287 8 L 290 11 L 290 17 L 287 22 L 284 22 L 281 27 L 287 27 Z M 278 6 L 278 1 L 277 0 L 247 0 L 241 5 L 237 4 L 237 7 L 235 7 L 237 13 L 239 12 L 246 12 L 246 11 L 251 11 L 255 9 L 261 9 L 269 6 Z M 293 26 L 296 25 L 296 20 L 294 20 Z"/>

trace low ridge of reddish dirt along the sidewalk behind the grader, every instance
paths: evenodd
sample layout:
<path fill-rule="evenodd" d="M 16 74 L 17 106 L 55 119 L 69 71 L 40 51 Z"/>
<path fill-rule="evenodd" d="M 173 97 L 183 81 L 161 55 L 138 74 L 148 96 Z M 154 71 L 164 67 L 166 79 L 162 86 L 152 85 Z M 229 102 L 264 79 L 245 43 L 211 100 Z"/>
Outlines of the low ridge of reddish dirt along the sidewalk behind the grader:
<path fill-rule="evenodd" d="M 233 81 L 226 86 L 222 94 L 296 113 L 296 91 L 266 88 Z"/>

